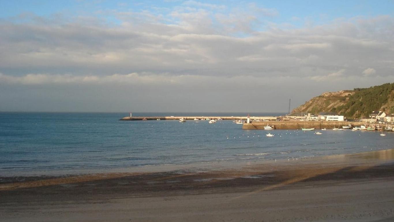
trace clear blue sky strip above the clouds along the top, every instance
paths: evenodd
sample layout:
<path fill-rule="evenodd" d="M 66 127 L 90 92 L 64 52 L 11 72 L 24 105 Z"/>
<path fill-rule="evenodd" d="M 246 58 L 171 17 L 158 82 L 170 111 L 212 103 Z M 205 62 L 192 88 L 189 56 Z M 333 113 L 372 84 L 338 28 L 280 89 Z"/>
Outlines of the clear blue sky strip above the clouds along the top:
<path fill-rule="evenodd" d="M 119 22 L 113 16 L 102 15 L 100 11 L 144 11 L 152 13 L 165 13 L 165 9 L 171 9 L 188 1 L 110 1 L 110 0 L 2 0 L 0 18 L 9 19 L 18 17 L 24 13 L 33 13 L 38 16 L 50 17 L 61 14 L 65 17 L 93 16 L 109 21 Z M 193 1 L 194 2 L 194 1 Z M 313 24 L 325 24 L 336 19 L 349 19 L 352 17 L 374 17 L 376 15 L 393 15 L 393 0 L 332 0 L 332 1 L 195 1 L 201 4 L 225 6 L 225 8 L 212 9 L 217 13 L 230 13 L 233 8 L 242 8 L 247 4 L 256 4 L 258 7 L 273 9 L 277 15 L 263 16 L 266 21 L 273 23 L 289 23 L 296 28 L 305 24 L 305 21 Z M 157 11 L 157 8 L 162 10 Z M 165 14 L 164 14 L 165 15 Z"/>

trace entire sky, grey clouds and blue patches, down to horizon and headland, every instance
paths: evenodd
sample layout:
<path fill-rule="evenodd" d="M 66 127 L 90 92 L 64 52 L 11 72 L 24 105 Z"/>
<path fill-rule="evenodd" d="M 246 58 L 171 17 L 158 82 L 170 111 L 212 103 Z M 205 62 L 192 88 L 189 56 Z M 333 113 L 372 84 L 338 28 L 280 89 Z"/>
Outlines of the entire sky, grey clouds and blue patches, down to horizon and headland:
<path fill-rule="evenodd" d="M 285 113 L 394 82 L 394 0 L 0 5 L 0 111 Z"/>

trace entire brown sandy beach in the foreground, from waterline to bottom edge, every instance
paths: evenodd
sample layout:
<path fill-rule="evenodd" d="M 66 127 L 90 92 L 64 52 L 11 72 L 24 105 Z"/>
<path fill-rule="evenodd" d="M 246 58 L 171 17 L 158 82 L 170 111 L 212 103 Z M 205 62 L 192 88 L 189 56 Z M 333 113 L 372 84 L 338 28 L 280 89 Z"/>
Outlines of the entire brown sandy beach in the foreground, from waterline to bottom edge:
<path fill-rule="evenodd" d="M 0 178 L 1 221 L 394 221 L 394 150 L 217 171 Z"/>

